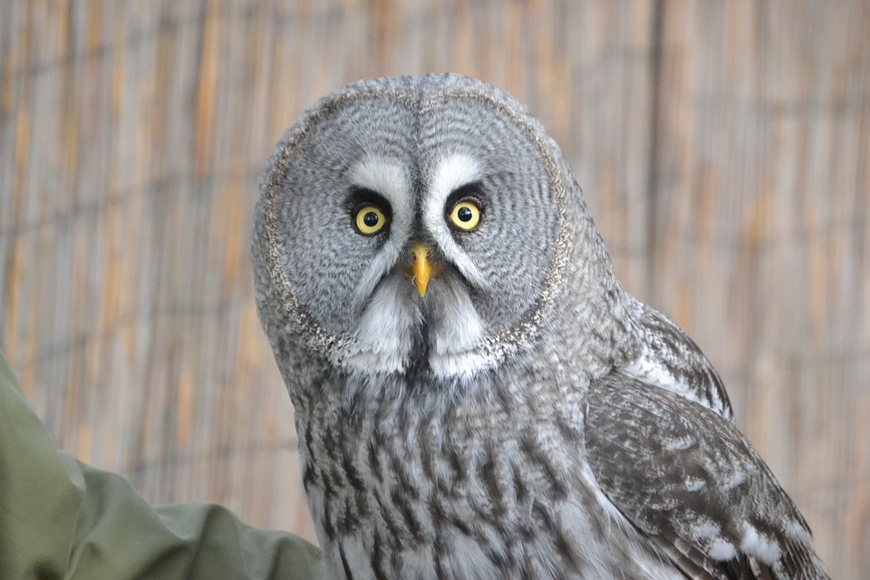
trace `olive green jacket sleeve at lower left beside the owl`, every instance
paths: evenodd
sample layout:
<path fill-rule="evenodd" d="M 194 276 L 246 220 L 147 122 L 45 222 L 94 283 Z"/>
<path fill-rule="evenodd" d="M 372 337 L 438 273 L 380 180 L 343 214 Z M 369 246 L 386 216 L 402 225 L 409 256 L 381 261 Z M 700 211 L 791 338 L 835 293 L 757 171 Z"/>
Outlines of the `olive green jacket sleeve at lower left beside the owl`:
<path fill-rule="evenodd" d="M 0 353 L 0 578 L 324 578 L 316 547 L 226 508 L 150 507 L 57 451 Z"/>

